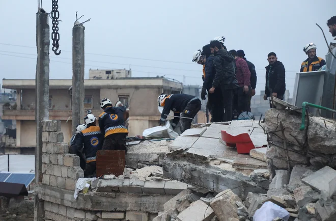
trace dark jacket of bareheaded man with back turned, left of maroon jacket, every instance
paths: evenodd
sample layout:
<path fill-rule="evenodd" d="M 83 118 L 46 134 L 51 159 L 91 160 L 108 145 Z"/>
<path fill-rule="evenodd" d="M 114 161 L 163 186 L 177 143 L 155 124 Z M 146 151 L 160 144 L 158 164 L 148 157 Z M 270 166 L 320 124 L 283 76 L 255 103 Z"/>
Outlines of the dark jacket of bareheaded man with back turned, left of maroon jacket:
<path fill-rule="evenodd" d="M 226 49 L 219 49 L 213 61 L 216 74 L 212 87 L 221 87 L 222 90 L 238 88 L 235 72 L 235 58 Z"/>

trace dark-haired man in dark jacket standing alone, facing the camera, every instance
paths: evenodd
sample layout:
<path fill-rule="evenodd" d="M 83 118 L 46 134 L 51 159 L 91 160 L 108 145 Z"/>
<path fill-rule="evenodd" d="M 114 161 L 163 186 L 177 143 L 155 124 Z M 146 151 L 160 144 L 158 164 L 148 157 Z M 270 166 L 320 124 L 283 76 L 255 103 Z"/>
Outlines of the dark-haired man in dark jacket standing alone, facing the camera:
<path fill-rule="evenodd" d="M 269 99 L 269 105 L 272 108 L 271 96 L 284 100 L 286 91 L 285 67 L 282 62 L 277 61 L 276 54 L 270 52 L 267 56 L 269 65 L 266 68 L 266 86 L 264 100 Z"/>

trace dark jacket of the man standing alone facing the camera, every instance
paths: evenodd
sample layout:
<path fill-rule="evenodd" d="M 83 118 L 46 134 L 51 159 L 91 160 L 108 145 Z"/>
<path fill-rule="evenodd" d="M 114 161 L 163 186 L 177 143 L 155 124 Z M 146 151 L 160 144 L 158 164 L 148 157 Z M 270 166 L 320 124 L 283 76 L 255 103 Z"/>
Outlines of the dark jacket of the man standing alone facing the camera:
<path fill-rule="evenodd" d="M 269 90 L 270 88 L 272 90 L 272 93 L 277 93 L 278 95 L 284 95 L 286 91 L 286 82 L 285 82 L 286 70 L 283 63 L 276 61 L 273 65 L 268 65 L 265 68 L 266 68 L 265 94 L 267 94 L 267 96 L 271 95 L 271 92 Z"/>

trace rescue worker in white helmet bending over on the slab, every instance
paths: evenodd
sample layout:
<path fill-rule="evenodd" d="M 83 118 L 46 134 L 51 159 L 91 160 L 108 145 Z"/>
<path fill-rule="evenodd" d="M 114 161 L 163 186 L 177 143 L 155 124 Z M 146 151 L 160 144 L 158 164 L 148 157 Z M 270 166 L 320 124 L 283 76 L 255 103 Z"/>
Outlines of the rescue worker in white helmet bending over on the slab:
<path fill-rule="evenodd" d="M 162 111 L 159 124 L 165 125 L 167 115 L 169 115 L 172 110 L 174 112 L 172 127 L 175 129 L 180 121 L 181 133 L 191 127 L 192 119 L 197 115 L 202 106 L 200 99 L 188 94 L 160 94 L 157 98 L 157 102 L 159 107 L 163 107 L 163 109 L 159 108 L 159 111 Z"/>

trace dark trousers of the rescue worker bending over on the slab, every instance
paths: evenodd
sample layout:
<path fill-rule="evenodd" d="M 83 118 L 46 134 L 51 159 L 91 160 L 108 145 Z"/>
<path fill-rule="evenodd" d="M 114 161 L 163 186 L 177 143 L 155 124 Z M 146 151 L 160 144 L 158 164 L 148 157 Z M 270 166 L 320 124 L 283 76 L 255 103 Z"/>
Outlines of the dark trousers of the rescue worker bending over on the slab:
<path fill-rule="evenodd" d="M 194 100 L 187 104 L 187 106 L 184 108 L 183 112 L 181 113 L 181 117 L 185 118 L 194 118 L 197 113 L 201 109 L 201 100 Z M 180 118 L 180 124 L 181 124 L 181 133 L 183 133 L 185 130 L 190 129 L 192 119 L 185 119 Z"/>

